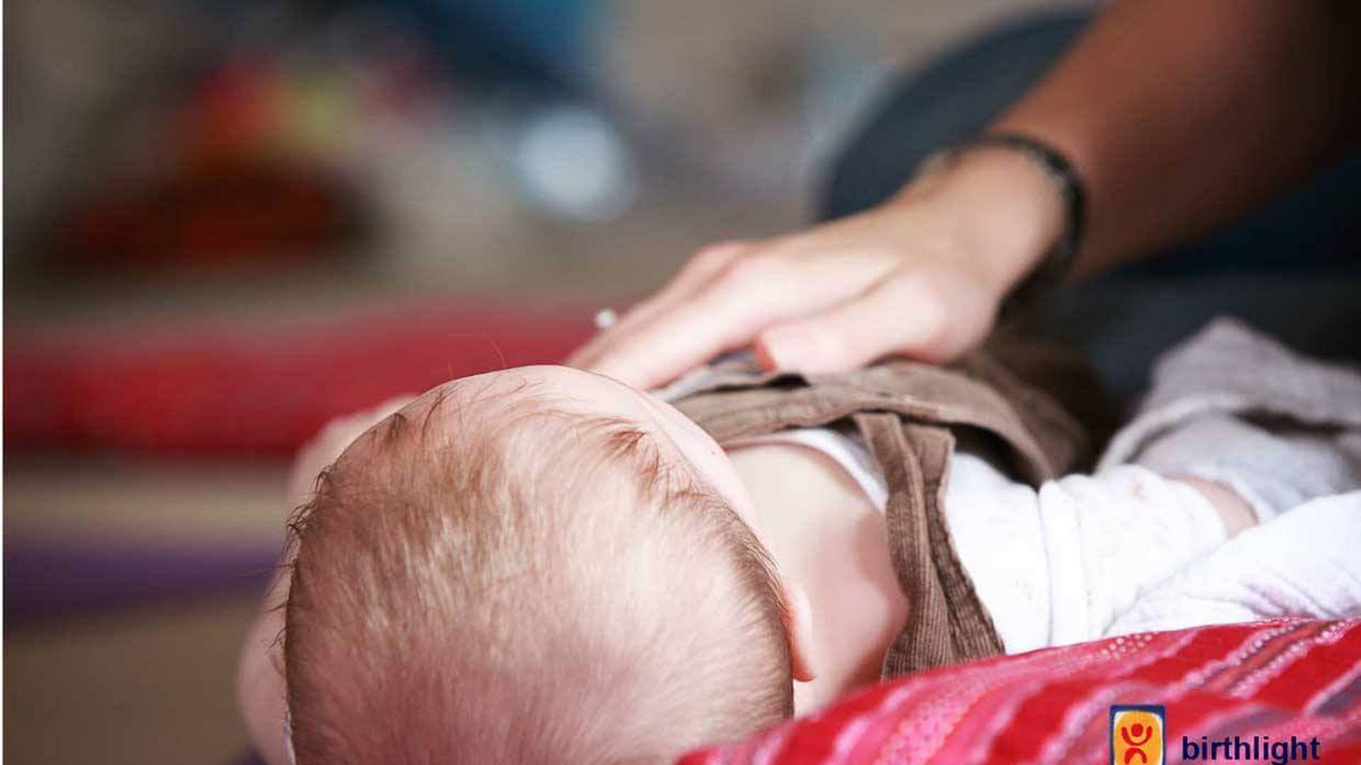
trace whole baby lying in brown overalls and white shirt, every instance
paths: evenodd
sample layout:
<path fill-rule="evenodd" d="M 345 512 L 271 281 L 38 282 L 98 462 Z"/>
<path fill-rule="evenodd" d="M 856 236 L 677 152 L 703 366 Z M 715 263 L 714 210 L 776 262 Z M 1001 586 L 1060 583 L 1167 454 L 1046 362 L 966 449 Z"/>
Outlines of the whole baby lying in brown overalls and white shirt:
<path fill-rule="evenodd" d="M 710 370 L 671 391 L 682 414 L 536 366 L 343 422 L 299 460 L 310 483 L 348 444 L 299 491 L 290 576 L 242 655 L 248 727 L 275 764 L 653 762 L 885 674 L 1196 623 L 1204 577 L 1183 572 L 1357 486 L 1353 373 L 1282 357 L 1345 410 L 1296 412 L 1285 440 L 1179 397 L 1177 372 L 1244 336 L 1165 362 L 1173 389 L 1112 446 L 1157 470 L 1038 490 L 1075 456 L 1062 411 L 979 370 Z M 1206 427 L 1224 459 L 1200 459 Z M 1236 461 L 1273 449 L 1312 478 Z"/>

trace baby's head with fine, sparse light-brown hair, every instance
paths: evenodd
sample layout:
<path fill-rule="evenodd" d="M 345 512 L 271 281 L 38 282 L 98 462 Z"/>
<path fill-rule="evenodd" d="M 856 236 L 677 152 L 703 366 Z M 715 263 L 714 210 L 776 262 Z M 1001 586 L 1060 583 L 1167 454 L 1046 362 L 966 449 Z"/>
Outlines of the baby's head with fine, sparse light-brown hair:
<path fill-rule="evenodd" d="M 295 523 L 299 765 L 630 762 L 792 709 L 781 587 L 721 451 L 608 378 L 446 384 Z"/>

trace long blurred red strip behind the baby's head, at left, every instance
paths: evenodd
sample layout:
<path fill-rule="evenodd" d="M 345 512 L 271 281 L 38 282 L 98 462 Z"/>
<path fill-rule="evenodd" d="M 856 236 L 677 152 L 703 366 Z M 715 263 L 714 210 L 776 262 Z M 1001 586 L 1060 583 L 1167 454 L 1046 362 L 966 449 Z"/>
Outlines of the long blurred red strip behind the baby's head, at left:
<path fill-rule="evenodd" d="M 280 455 L 327 419 L 445 380 L 561 361 L 591 332 L 569 308 L 460 306 L 327 325 L 5 336 L 4 437 L 33 449 Z"/>

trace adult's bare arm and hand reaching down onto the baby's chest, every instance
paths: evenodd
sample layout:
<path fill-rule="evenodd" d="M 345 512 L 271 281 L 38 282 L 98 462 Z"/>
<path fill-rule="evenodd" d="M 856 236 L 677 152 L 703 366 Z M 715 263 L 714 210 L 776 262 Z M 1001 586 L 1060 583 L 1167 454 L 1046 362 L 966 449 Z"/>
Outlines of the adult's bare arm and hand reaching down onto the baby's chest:
<path fill-rule="evenodd" d="M 1085 180 L 1079 272 L 1153 253 L 1343 144 L 1358 15 L 1353 0 L 1123 3 L 994 128 L 1052 144 Z M 646 388 L 743 346 L 802 372 L 953 359 L 1062 241 L 1057 186 L 1011 147 L 946 152 L 886 204 L 705 248 L 570 363 Z"/>

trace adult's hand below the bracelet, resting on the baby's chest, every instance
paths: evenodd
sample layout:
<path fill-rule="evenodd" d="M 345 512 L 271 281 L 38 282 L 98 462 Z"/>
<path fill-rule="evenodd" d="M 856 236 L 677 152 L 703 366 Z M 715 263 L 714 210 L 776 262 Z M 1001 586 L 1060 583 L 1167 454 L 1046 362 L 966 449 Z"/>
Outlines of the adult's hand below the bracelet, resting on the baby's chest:
<path fill-rule="evenodd" d="M 652 388 L 744 346 L 799 372 L 949 361 L 988 333 L 1062 216 L 1029 159 L 972 151 L 868 212 L 702 249 L 568 363 Z"/>

